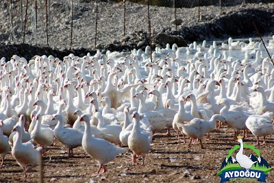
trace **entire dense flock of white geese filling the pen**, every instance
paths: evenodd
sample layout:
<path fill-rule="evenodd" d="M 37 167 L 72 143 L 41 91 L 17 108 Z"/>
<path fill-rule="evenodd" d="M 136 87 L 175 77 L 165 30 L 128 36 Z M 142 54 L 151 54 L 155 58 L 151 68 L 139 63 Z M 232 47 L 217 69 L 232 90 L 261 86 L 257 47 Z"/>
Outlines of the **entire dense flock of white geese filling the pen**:
<path fill-rule="evenodd" d="M 274 52 L 274 36 L 266 46 Z M 245 58 L 228 56 L 232 49 Z M 1 58 L 1 165 L 11 150 L 25 174 L 54 138 L 69 148 L 69 157 L 82 147 L 99 163 L 97 173 L 107 172 L 104 164 L 123 146 L 133 152 L 133 163 L 142 156 L 143 165 L 153 134 L 164 129 L 178 140 L 183 134 L 184 143 L 188 136 L 188 147 L 198 139 L 203 148 L 203 137 L 221 125 L 234 128 L 234 138 L 242 130 L 265 143 L 274 133 L 274 66 L 264 51 L 261 42 L 229 38 L 221 46 L 167 44 L 153 51 L 152 62 L 149 47 Z"/>

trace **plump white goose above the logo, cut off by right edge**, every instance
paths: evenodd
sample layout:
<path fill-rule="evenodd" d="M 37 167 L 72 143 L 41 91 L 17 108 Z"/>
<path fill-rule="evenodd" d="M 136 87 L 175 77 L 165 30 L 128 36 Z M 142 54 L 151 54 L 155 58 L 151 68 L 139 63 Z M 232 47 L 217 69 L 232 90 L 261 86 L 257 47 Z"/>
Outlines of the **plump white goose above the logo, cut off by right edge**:
<path fill-rule="evenodd" d="M 256 136 L 257 145 L 260 145 L 260 136 L 264 137 L 264 142 L 262 143 L 262 145 L 264 145 L 265 137 L 274 134 L 274 125 L 271 123 L 272 119 L 273 112 L 266 112 L 262 115 L 251 115 L 247 118 L 247 121 L 245 121 L 247 128 L 254 136 Z"/>

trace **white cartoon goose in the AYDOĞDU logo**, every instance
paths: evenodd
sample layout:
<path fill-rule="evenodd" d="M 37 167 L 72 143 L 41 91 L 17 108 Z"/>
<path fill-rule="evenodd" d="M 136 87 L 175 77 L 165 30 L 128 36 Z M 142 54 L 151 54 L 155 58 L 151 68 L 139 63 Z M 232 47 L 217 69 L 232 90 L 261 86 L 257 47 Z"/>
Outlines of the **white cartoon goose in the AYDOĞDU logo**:
<path fill-rule="evenodd" d="M 245 154 L 242 154 L 242 151 L 244 149 L 244 145 L 242 144 L 242 136 L 238 136 L 238 139 L 236 139 L 236 141 L 240 143 L 240 150 L 236 154 L 236 160 L 240 164 L 240 167 L 242 167 L 242 169 L 250 169 L 252 165 L 257 161 L 253 161 Z"/>

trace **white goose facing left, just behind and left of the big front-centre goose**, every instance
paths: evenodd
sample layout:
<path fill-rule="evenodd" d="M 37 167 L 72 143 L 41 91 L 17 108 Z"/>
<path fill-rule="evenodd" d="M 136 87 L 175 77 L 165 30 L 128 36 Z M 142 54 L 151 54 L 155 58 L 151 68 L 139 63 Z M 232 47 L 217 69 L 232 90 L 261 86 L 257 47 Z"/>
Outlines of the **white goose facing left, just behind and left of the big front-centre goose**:
<path fill-rule="evenodd" d="M 55 114 L 53 120 L 58 120 L 54 128 L 55 138 L 69 148 L 69 157 L 73 157 L 73 148 L 82 145 L 83 132 L 72 127 L 64 128 L 64 118 L 60 114 Z"/>

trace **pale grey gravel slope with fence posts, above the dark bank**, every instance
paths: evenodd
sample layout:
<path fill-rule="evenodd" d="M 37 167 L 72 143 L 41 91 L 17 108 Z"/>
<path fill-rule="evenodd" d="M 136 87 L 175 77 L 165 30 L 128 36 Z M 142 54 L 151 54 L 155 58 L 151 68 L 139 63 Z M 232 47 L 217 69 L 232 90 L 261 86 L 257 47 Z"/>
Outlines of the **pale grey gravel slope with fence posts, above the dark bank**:
<path fill-rule="evenodd" d="M 219 16 L 231 10 L 230 6 L 258 2 L 149 0 L 151 32 L 160 32 L 164 27 L 177 29 L 180 19 L 188 24 L 203 21 L 209 7 L 214 8 L 210 16 Z M 106 38 L 108 43 L 113 43 L 132 32 L 149 30 L 147 1 L 5 0 L 0 1 L 0 5 L 4 10 L 0 20 L 1 42 L 25 42 L 59 49 L 95 48 Z M 190 8 L 194 10 L 191 16 L 187 13 Z M 173 19 L 177 23 L 171 25 Z"/>

